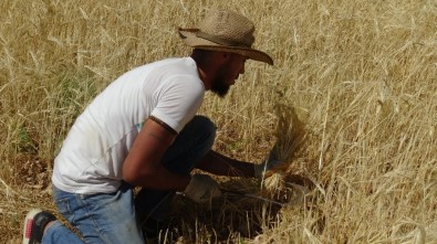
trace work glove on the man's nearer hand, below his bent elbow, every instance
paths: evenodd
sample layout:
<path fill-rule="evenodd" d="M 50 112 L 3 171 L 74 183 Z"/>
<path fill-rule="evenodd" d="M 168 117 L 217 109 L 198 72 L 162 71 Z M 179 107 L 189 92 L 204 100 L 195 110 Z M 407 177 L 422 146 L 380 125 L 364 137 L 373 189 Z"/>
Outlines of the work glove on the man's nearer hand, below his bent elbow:
<path fill-rule="evenodd" d="M 198 203 L 207 202 L 221 195 L 217 181 L 207 174 L 200 173 L 191 176 L 191 180 L 183 193 Z"/>

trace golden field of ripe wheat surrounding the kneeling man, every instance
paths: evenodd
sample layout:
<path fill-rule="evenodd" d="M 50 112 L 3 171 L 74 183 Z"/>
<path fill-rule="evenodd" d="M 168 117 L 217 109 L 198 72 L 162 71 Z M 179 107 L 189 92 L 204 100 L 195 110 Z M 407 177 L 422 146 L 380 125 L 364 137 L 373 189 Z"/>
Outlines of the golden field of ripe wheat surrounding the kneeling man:
<path fill-rule="evenodd" d="M 284 173 L 315 187 L 284 208 L 181 200 L 160 242 L 437 243 L 435 0 L 2 0 L 0 243 L 21 242 L 30 208 L 55 211 L 53 159 L 87 103 L 135 66 L 189 55 L 176 30 L 211 8 L 251 19 L 274 60 L 207 95 L 215 149 L 260 162 L 275 145 Z"/>

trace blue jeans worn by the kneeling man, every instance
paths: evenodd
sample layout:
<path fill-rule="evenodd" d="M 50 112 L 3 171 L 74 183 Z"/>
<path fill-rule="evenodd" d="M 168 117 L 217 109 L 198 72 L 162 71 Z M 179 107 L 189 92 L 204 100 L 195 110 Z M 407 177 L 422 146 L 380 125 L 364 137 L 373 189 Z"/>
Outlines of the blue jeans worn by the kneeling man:
<path fill-rule="evenodd" d="M 170 171 L 189 174 L 211 149 L 215 125 L 195 116 L 168 148 L 162 163 Z M 114 193 L 75 194 L 53 190 L 60 213 L 81 233 L 82 238 L 56 221 L 44 233 L 42 243 L 144 243 L 139 220 L 162 220 L 175 191 L 142 189 L 134 199 L 132 187 L 123 183 Z"/>

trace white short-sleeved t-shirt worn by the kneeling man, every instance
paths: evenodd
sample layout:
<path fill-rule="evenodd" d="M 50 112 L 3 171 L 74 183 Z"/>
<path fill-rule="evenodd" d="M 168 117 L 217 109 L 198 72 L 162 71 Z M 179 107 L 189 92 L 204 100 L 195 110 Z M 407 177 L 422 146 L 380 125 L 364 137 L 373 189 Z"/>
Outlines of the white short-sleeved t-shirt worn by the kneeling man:
<path fill-rule="evenodd" d="M 195 61 L 169 59 L 134 68 L 104 89 L 72 126 L 54 159 L 52 182 L 72 193 L 108 193 L 123 180 L 123 162 L 150 115 L 177 132 L 205 95 Z"/>

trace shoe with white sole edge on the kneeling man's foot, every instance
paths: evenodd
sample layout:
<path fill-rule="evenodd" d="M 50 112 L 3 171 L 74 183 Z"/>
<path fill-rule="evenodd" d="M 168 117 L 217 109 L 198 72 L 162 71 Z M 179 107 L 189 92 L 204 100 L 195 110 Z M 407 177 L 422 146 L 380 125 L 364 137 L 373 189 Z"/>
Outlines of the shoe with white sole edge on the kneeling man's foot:
<path fill-rule="evenodd" d="M 45 226 L 55 220 L 53 214 L 40 209 L 29 211 L 24 219 L 23 244 L 40 244 Z"/>

